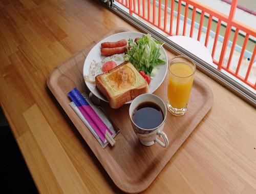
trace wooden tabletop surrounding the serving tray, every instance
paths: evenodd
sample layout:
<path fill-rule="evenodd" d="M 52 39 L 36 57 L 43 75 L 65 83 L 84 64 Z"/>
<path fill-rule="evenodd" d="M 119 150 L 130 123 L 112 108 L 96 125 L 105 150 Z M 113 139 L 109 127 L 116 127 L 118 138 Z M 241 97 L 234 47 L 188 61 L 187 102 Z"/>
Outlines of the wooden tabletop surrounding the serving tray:
<path fill-rule="evenodd" d="M 0 1 L 0 102 L 41 193 L 121 192 L 46 86 L 54 67 L 115 27 L 136 30 L 94 1 Z M 197 76 L 214 105 L 144 192 L 256 193 L 255 109 Z"/>

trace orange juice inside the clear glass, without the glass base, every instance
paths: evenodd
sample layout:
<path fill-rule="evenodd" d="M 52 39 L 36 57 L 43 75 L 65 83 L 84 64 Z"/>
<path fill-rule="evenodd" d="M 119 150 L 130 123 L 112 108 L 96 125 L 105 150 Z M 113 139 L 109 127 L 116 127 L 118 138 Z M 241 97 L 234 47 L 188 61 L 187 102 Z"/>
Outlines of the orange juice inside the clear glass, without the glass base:
<path fill-rule="evenodd" d="M 168 101 L 176 109 L 182 109 L 190 96 L 194 69 L 184 62 L 176 62 L 168 71 Z"/>

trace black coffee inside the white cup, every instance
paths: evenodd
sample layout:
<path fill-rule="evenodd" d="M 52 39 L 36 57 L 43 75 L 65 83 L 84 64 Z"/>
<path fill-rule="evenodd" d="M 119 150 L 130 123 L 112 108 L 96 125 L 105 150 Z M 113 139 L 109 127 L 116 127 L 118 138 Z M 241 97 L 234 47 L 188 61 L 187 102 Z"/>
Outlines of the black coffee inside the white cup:
<path fill-rule="evenodd" d="M 143 102 L 137 106 L 132 115 L 133 122 L 141 128 L 151 129 L 163 122 L 163 113 L 154 102 Z"/>

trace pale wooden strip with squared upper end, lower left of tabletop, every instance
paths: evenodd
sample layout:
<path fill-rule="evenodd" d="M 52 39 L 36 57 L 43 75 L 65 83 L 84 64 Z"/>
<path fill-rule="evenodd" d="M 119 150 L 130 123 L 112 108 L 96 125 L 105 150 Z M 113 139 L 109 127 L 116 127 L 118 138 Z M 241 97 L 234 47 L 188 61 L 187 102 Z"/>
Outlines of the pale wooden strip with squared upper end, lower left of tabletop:
<path fill-rule="evenodd" d="M 62 189 L 68 193 L 88 192 L 88 188 L 83 185 L 77 170 L 54 135 L 38 106 L 36 104 L 32 105 L 23 113 L 23 116 Z M 55 160 L 55 156 L 58 156 L 59 161 Z M 63 173 L 63 171 L 59 169 L 65 170 L 66 173 Z M 64 174 L 66 176 L 63 176 Z"/>

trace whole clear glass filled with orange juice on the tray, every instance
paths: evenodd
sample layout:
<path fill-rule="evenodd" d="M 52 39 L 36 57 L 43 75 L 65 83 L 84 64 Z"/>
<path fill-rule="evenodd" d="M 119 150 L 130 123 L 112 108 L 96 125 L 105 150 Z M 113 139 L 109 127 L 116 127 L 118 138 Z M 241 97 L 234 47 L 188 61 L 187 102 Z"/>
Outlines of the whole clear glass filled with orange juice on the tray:
<path fill-rule="evenodd" d="M 184 115 L 196 72 L 195 63 L 179 55 L 168 66 L 168 111 L 175 116 Z"/>

